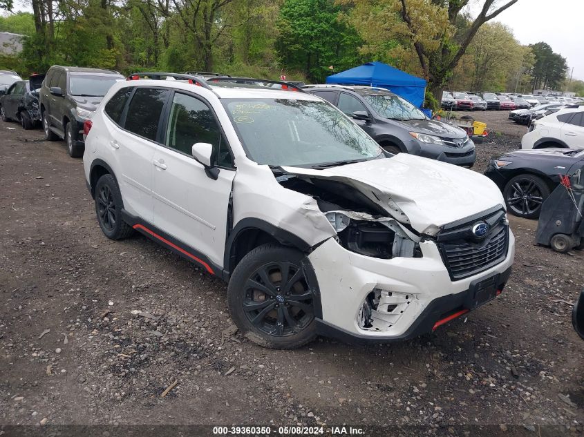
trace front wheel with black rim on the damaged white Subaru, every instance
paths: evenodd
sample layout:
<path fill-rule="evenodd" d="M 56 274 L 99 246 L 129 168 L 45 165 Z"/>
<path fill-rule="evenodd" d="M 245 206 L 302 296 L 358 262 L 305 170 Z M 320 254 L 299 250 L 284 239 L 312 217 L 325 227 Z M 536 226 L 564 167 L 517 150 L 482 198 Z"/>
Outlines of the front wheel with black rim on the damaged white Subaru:
<path fill-rule="evenodd" d="M 229 313 L 238 329 L 272 349 L 296 349 L 314 340 L 318 287 L 309 284 L 310 272 L 308 258 L 296 249 L 264 244 L 247 253 L 227 288 Z"/>

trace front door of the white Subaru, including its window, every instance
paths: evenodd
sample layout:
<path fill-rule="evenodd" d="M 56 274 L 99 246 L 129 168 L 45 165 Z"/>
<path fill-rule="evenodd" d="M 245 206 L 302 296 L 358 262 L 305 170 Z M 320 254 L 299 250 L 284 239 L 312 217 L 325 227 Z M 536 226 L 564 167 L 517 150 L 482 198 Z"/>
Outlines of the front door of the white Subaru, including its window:
<path fill-rule="evenodd" d="M 223 265 L 227 209 L 235 176 L 232 155 L 207 101 L 176 92 L 167 106 L 167 126 L 153 157 L 154 225 Z M 213 146 L 217 179 L 192 157 L 195 143 Z"/>

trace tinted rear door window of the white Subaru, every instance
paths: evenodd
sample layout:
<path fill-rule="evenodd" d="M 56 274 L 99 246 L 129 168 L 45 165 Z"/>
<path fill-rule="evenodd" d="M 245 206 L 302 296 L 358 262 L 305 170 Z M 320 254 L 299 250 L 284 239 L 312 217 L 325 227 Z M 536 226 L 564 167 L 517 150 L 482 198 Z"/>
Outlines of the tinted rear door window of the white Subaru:
<path fill-rule="evenodd" d="M 137 88 L 128 107 L 124 128 L 140 137 L 156 141 L 158 124 L 168 90 Z"/>

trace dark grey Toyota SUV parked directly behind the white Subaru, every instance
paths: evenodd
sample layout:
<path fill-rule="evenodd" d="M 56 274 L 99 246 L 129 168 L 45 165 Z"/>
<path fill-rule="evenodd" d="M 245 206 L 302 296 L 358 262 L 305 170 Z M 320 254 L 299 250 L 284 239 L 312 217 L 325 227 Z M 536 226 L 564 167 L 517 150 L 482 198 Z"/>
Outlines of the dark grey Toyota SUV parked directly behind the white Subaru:
<path fill-rule="evenodd" d="M 428 119 L 385 88 L 307 85 L 303 90 L 337 106 L 390 153 L 411 153 L 465 167 L 475 163 L 475 145 L 464 130 Z"/>

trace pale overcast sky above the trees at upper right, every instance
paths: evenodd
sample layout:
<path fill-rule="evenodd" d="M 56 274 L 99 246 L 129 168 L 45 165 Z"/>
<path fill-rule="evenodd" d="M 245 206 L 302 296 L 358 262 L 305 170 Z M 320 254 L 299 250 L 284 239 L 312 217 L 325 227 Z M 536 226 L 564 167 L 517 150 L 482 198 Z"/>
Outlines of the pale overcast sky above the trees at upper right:
<path fill-rule="evenodd" d="M 476 16 L 483 2 L 475 0 L 473 3 L 471 14 Z M 505 3 L 506 0 L 498 0 L 500 5 Z M 548 43 L 554 52 L 566 58 L 568 77 L 574 68 L 574 79 L 584 80 L 583 19 L 584 0 L 519 0 L 493 21 L 509 26 L 524 45 Z"/>

